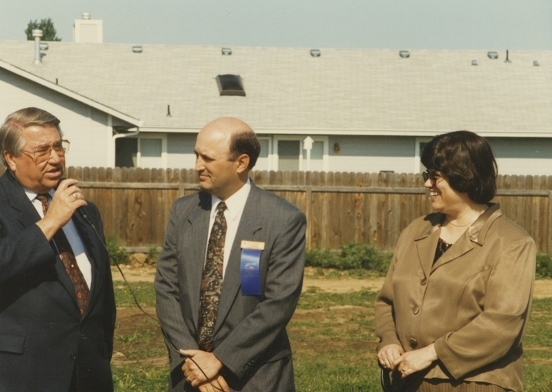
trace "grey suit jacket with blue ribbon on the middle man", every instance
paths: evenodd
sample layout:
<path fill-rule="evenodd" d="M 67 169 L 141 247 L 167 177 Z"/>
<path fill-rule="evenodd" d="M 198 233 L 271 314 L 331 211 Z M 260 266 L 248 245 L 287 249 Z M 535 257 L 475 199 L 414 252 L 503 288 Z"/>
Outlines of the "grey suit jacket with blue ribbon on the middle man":
<path fill-rule="evenodd" d="M 208 239 L 211 197 L 203 191 L 172 206 L 155 289 L 157 314 L 178 349 L 197 349 L 199 291 Z M 252 184 L 226 266 L 214 353 L 233 391 L 295 391 L 286 324 L 301 294 L 305 258 L 304 214 Z M 261 295 L 242 295 L 240 244 L 264 242 Z M 228 251 L 228 250 L 226 250 Z M 171 349 L 170 391 L 189 388 L 183 357 Z"/>

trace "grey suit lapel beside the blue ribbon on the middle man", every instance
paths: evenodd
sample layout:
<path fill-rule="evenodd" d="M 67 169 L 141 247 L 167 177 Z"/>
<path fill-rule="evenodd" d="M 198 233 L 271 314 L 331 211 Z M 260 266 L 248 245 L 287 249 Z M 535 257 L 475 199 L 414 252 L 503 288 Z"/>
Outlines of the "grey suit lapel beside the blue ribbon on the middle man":
<path fill-rule="evenodd" d="M 222 322 L 230 311 L 239 288 L 242 286 L 240 279 L 240 266 L 242 258 L 241 243 L 242 239 L 258 241 L 262 233 L 262 226 L 259 224 L 259 214 L 262 214 L 260 208 L 259 188 L 251 184 L 251 189 L 244 206 L 242 219 L 239 220 L 236 237 L 228 258 L 228 265 L 224 273 L 224 282 L 220 296 L 219 309 L 217 311 L 217 322 L 215 323 L 215 334 L 220 329 Z"/>

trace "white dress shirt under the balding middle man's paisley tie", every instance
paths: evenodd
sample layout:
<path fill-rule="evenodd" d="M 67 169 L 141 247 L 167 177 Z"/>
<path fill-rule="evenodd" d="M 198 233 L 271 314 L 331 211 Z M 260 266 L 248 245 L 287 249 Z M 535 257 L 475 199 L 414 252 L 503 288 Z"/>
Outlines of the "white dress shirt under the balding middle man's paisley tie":
<path fill-rule="evenodd" d="M 242 219 L 242 213 L 246 206 L 247 197 L 249 196 L 249 190 L 251 189 L 250 179 L 242 188 L 240 188 L 232 196 L 228 197 L 224 202 L 226 203 L 226 210 L 224 210 L 224 218 L 226 219 L 226 238 L 224 239 L 224 264 L 222 266 L 222 277 L 224 279 L 224 273 L 226 272 L 226 266 L 228 265 L 228 258 L 230 257 L 230 251 L 236 238 L 237 227 L 239 221 Z M 217 206 L 221 202 L 221 199 L 213 195 L 211 197 L 211 215 L 209 219 L 209 231 L 207 236 L 207 246 L 209 242 L 209 236 L 211 228 L 215 223 L 215 216 L 217 215 Z M 205 253 L 207 255 L 207 252 Z"/>

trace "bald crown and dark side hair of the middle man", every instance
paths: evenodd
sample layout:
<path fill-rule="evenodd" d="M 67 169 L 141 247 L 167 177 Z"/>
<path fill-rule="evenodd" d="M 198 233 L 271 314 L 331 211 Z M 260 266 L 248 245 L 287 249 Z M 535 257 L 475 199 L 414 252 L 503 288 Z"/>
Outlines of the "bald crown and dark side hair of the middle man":
<path fill-rule="evenodd" d="M 230 151 L 228 160 L 235 161 L 239 155 L 246 154 L 249 157 L 249 170 L 257 163 L 261 145 L 255 132 L 244 121 L 234 117 L 221 117 L 204 126 L 200 133 L 217 135 L 221 143 L 226 141 Z"/>

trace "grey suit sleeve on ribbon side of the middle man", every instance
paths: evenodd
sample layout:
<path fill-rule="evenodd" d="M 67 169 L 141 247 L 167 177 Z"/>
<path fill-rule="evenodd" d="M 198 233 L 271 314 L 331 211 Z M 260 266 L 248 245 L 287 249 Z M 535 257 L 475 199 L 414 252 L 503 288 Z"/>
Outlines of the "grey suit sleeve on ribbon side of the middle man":
<path fill-rule="evenodd" d="M 285 333 L 301 295 L 306 218 L 299 210 L 293 210 L 286 216 L 278 229 L 273 228 L 270 235 L 275 239 L 265 250 L 270 252 L 270 257 L 264 300 L 214 351 L 219 360 L 239 378 Z"/>

